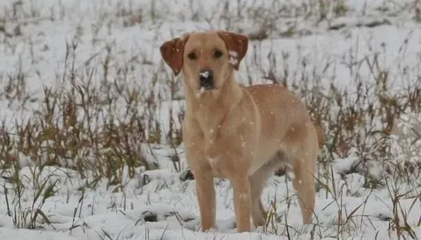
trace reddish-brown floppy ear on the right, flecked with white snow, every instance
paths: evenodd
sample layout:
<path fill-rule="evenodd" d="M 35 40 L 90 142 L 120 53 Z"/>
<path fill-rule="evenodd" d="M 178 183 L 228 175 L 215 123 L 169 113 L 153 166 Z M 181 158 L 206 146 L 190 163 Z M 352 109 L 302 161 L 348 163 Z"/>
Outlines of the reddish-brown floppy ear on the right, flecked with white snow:
<path fill-rule="evenodd" d="M 239 70 L 241 59 L 248 49 L 248 38 L 243 34 L 236 34 L 230 31 L 218 31 L 219 38 L 224 40 L 228 49 L 228 59 L 235 70 Z"/>

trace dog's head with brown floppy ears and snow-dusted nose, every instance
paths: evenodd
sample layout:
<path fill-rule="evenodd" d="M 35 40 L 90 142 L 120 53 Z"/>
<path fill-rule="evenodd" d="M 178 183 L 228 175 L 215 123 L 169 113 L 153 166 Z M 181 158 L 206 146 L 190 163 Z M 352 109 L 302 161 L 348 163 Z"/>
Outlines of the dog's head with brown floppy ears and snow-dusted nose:
<path fill-rule="evenodd" d="M 215 90 L 239 69 L 247 49 L 248 38 L 242 34 L 206 31 L 164 42 L 160 53 L 174 75 L 183 72 L 193 90 Z"/>

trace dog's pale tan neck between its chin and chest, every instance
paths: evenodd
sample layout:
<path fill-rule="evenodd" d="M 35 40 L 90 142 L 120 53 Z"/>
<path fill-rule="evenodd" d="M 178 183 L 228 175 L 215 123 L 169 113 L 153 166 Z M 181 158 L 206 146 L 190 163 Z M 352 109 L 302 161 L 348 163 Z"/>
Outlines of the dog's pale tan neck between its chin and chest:
<path fill-rule="evenodd" d="M 184 92 L 187 105 L 186 118 L 196 120 L 204 132 L 220 127 L 243 97 L 242 87 L 235 81 L 233 72 L 217 90 L 200 94 L 184 81 Z"/>

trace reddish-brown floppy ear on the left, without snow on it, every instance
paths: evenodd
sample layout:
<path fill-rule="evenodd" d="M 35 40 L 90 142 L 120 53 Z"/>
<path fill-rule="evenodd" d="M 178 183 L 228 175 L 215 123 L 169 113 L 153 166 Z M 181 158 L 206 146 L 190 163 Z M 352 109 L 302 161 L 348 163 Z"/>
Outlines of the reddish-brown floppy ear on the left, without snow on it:
<path fill-rule="evenodd" d="M 183 38 L 173 38 L 164 42 L 159 48 L 164 61 L 176 76 L 180 73 L 183 65 L 184 45 L 188 38 L 188 35 Z"/>

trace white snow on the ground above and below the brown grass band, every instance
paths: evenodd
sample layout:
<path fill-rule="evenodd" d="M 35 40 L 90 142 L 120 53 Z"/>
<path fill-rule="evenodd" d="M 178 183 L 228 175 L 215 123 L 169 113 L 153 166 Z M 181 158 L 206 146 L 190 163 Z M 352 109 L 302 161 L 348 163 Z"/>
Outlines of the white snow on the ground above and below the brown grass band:
<path fill-rule="evenodd" d="M 413 20 L 415 7 L 408 7 L 413 1 L 399 4 L 396 1 L 343 2 L 348 6 L 344 16 L 332 17 L 330 25 L 326 21 L 315 25 L 321 6 L 304 0 L 296 3 L 287 0 L 232 1 L 228 7 L 224 5 L 225 1 L 3 0 L 0 3 L 3 10 L 0 10 L 0 29 L 3 29 L 0 31 L 0 86 L 3 91 L 8 76 L 16 75 L 21 69 L 25 75 L 25 91 L 30 92 L 31 101 L 22 107 L 0 94 L 0 118 L 6 126 L 14 121 L 22 122 L 39 107 L 45 85 L 69 88 L 69 82 L 62 81 L 69 77 L 69 73 L 64 72 L 66 44 L 77 42 L 74 55 L 73 51 L 70 53 L 78 71 L 84 72 L 88 67 L 103 63 L 107 46 L 112 46 L 110 76 L 119 75 L 118 67 L 128 64 L 131 68 L 128 84 L 133 88 L 156 88 L 163 94 L 159 115 L 165 131 L 169 107 L 174 107 L 173 114 L 176 115 L 183 103 L 168 101 L 169 90 L 165 83 L 172 77 L 160 62 L 158 46 L 184 31 L 228 26 L 245 32 L 255 31 L 263 23 L 248 17 L 258 14 L 253 10 L 259 8 L 268 18 L 274 14 L 271 10 L 280 11 L 275 14 L 276 19 L 272 19 L 275 30 L 269 33 L 270 38 L 250 42 L 248 55 L 238 72 L 244 83 L 249 83 L 249 77 L 253 83 L 263 82 L 262 77 L 274 68 L 276 72 L 287 72 L 291 81 L 302 79 L 302 74 L 306 74 L 308 78 L 318 77 L 322 85 L 334 82 L 341 88 L 349 88 L 356 84 L 357 75 L 350 72 L 347 64 L 360 62 L 366 56 L 365 60 L 370 61 L 376 54 L 379 66 L 388 68 L 392 78 L 396 79 L 393 81 L 395 87 L 408 81 L 419 81 L 421 25 Z M 300 12 L 304 3 L 309 4 L 306 14 Z M 282 10 L 282 4 L 288 8 Z M 238 14 L 243 15 L 242 18 L 237 17 Z M 3 22 L 3 18 L 12 21 Z M 228 18 L 233 21 L 227 21 Z M 365 26 L 385 19 L 387 21 L 378 27 Z M 295 27 L 289 30 L 293 24 Z M 338 30 L 328 31 L 329 27 L 335 26 L 339 26 Z M 288 31 L 294 32 L 286 36 Z M 352 69 L 359 72 L 361 79 L 374 81 L 366 65 Z M 104 70 L 95 69 L 93 75 L 93 79 L 101 79 Z M 105 81 L 115 79 L 109 77 Z M 252 233 L 237 234 L 230 184 L 215 180 L 217 229 L 203 233 L 197 231 L 200 221 L 194 180 L 180 178 L 183 172 L 176 172 L 168 161 L 171 156 L 169 148 L 156 146 L 152 150 L 155 154 L 149 152 L 148 156 L 157 156 L 160 170 L 139 168 L 134 178 L 125 174 L 121 188 L 108 186 L 106 179 L 81 178 L 69 169 L 45 167 L 39 173 L 34 172 L 31 164 L 23 164 L 19 172 L 25 186 L 21 196 L 23 205 L 10 204 L 11 190 L 0 191 L 0 239 L 266 240 L 284 239 L 287 234 L 291 239 L 394 239 L 396 233 L 391 222 L 396 215 L 400 224 L 406 219 L 414 234 L 421 236 L 420 200 L 415 195 L 400 198 L 397 202 L 402 211 L 394 209 L 396 196 L 392 189 L 364 187 L 368 176 L 351 171 L 359 162 L 354 156 L 337 159 L 331 169 L 319 173 L 323 184 L 317 193 L 315 219 L 310 226 L 302 226 L 300 222 L 300 209 L 291 183 L 285 176 L 273 176 L 262 198 L 268 208 L 270 202 L 276 202 L 278 224 L 269 224 L 268 229 L 254 229 Z M 182 145 L 177 150 L 184 170 L 187 165 Z M 12 172 L 3 172 L 0 178 L 3 189 L 14 187 Z M 48 179 L 48 183 L 57 181 L 57 193 L 45 202 L 40 199 L 34 202 L 36 189 L 43 179 Z M 95 187 L 87 187 L 87 183 L 95 183 Z M 389 186 L 398 186 L 400 193 L 406 189 L 421 190 L 419 179 L 411 184 L 389 183 Z M 40 209 L 49 222 L 39 214 L 35 229 L 15 228 L 13 216 L 24 214 L 25 211 L 19 212 L 19 209 L 31 209 L 32 204 L 41 204 Z M 338 219 L 341 219 L 340 224 Z"/>

